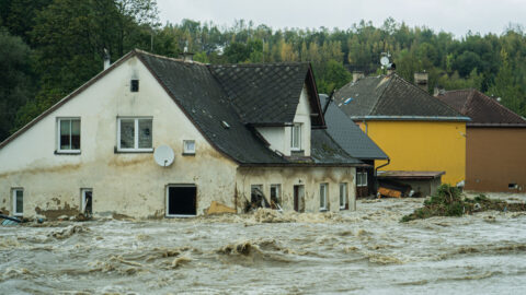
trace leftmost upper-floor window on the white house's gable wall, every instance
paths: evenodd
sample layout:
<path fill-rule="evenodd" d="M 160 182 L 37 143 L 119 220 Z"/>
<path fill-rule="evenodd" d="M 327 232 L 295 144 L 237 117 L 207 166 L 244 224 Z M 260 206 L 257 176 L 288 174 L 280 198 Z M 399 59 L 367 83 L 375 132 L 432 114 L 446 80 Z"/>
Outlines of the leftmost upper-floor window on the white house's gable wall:
<path fill-rule="evenodd" d="M 80 118 L 58 118 L 57 152 L 80 153 Z"/>

